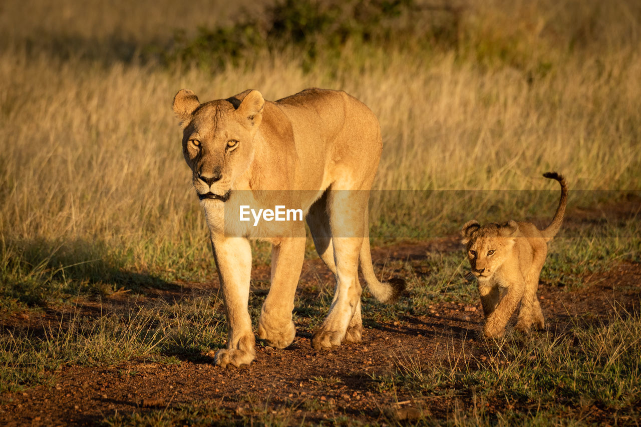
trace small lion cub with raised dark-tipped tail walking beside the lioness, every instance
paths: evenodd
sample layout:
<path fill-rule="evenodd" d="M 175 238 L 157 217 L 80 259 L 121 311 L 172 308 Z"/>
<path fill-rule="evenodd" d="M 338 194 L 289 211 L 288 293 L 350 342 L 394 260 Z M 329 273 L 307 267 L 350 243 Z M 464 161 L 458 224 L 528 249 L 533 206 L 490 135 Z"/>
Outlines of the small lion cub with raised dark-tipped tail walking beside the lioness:
<path fill-rule="evenodd" d="M 561 184 L 561 200 L 550 225 L 539 230 L 529 222 L 508 221 L 481 225 L 472 220 L 462 229 L 462 243 L 467 248 L 472 273 L 478 279 L 478 290 L 485 314 L 485 337 L 501 337 L 519 302 L 516 328 L 528 332 L 534 323 L 545 327 L 537 300 L 538 277 L 547 255 L 547 241 L 561 227 L 567 185 L 556 172 L 543 174 Z M 501 297 L 503 294 L 503 297 Z"/>

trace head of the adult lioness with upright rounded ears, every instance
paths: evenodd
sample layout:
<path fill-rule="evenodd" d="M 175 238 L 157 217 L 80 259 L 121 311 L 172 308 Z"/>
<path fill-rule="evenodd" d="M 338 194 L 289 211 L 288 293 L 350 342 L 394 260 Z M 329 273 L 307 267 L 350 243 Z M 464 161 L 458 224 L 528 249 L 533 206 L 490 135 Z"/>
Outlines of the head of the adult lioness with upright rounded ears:
<path fill-rule="evenodd" d="M 191 90 L 176 93 L 173 109 L 183 128 L 183 154 L 201 200 L 228 200 L 233 182 L 254 158 L 264 106 L 257 90 L 204 104 Z"/>

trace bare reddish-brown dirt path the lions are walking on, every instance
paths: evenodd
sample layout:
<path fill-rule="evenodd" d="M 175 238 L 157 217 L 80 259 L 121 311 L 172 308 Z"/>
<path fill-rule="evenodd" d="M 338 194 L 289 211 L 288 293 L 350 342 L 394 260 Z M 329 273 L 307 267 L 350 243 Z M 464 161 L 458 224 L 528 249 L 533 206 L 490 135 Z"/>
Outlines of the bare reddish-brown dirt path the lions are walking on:
<path fill-rule="evenodd" d="M 375 261 L 383 262 L 422 257 L 435 247 L 452 250 L 456 239 L 376 248 L 373 252 Z M 306 261 L 303 272 L 303 291 L 310 278 L 328 277 L 318 260 Z M 267 271 L 259 270 L 258 275 L 267 275 Z M 622 263 L 589 282 L 590 286 L 579 291 L 545 283 L 540 286 L 549 330 L 567 328 L 577 312 L 607 318 L 614 304 L 638 311 L 640 265 Z M 192 289 L 185 286 L 174 293 L 175 298 L 180 293 L 191 294 Z M 426 410 L 447 419 L 453 399 L 414 401 L 402 390 L 379 391 L 373 377 L 393 371 L 399 359 L 429 363 L 462 357 L 472 366 L 476 360 L 485 360 L 490 355 L 479 337 L 481 321 L 479 303 L 441 302 L 424 315 L 406 314 L 399 321 L 365 328 L 361 344 L 328 352 L 314 351 L 310 346 L 312 330 L 297 325 L 296 341 L 290 347 L 274 350 L 257 346 L 256 360 L 240 369 L 221 369 L 206 357 L 169 366 L 128 362 L 113 367 L 65 367 L 51 386 L 4 394 L 0 424 L 88 425 L 116 412 L 145 413 L 179 405 L 190 405 L 196 412 L 197 408 L 211 412 L 216 407 L 221 423 L 239 424 L 264 421 L 265 417 L 285 419 L 288 424 L 317 423 L 337 416 L 385 423 L 412 419 Z"/>

